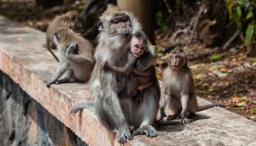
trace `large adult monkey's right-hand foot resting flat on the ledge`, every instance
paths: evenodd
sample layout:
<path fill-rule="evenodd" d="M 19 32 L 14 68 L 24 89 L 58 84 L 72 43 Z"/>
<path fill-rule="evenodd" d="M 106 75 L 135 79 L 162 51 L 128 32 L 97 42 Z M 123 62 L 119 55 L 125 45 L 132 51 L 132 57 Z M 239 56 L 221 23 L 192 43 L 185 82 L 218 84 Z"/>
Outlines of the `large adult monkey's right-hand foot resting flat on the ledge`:
<path fill-rule="evenodd" d="M 146 134 L 147 137 L 157 137 L 157 130 L 151 126 L 145 126 L 143 128 L 138 128 L 133 131 L 133 135 L 143 135 Z"/>

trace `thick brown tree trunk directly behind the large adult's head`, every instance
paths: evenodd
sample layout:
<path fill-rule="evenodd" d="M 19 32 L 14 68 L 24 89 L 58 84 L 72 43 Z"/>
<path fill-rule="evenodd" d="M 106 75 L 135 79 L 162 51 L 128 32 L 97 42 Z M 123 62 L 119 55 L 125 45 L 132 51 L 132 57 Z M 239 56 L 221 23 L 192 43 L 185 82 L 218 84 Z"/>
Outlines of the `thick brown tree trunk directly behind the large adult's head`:
<path fill-rule="evenodd" d="M 155 7 L 154 0 L 117 0 L 121 9 L 132 12 L 140 21 L 143 31 L 154 44 Z"/>

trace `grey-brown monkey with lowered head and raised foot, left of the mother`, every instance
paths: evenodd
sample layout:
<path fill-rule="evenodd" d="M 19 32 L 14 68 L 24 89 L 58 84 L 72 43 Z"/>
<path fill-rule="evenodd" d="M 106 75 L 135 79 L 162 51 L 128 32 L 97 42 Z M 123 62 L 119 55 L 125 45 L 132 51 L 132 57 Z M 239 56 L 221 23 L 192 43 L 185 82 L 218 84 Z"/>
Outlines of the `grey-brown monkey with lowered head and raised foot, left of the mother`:
<path fill-rule="evenodd" d="M 58 28 L 54 34 L 54 42 L 59 51 L 60 61 L 57 71 L 47 81 L 47 86 L 69 82 L 71 79 L 87 82 L 94 67 L 94 47 L 91 43 L 67 27 Z M 64 79 L 57 82 L 62 74 Z"/>

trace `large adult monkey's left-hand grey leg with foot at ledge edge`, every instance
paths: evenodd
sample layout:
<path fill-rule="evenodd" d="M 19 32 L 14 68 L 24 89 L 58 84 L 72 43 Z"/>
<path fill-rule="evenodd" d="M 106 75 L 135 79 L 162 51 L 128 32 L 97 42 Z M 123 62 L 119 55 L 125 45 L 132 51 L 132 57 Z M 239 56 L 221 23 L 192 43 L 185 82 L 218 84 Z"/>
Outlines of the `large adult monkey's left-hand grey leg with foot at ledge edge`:
<path fill-rule="evenodd" d="M 100 122 L 110 130 L 113 130 L 117 134 L 118 142 L 127 142 L 127 139 L 132 139 L 132 134 L 127 123 L 127 119 L 124 117 L 124 112 L 121 109 L 121 103 L 115 93 L 116 87 L 112 87 L 113 76 L 105 77 L 109 84 L 106 84 L 104 88 L 110 88 L 109 93 L 105 93 L 100 88 L 99 80 L 94 79 L 92 81 L 92 94 L 94 96 L 95 112 Z M 108 96 L 105 96 L 108 95 Z"/>

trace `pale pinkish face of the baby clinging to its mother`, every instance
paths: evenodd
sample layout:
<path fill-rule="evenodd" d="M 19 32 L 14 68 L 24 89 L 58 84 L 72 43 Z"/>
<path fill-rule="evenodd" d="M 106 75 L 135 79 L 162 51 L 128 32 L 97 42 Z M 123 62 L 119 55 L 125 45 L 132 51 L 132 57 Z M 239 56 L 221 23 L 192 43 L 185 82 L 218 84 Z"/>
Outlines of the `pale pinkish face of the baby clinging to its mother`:
<path fill-rule="evenodd" d="M 136 58 L 143 55 L 146 50 L 146 44 L 143 42 L 143 39 L 138 39 L 136 37 L 132 37 L 131 40 L 131 52 L 135 55 Z"/>

